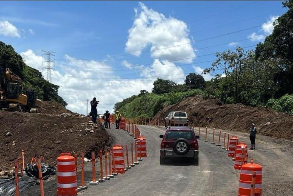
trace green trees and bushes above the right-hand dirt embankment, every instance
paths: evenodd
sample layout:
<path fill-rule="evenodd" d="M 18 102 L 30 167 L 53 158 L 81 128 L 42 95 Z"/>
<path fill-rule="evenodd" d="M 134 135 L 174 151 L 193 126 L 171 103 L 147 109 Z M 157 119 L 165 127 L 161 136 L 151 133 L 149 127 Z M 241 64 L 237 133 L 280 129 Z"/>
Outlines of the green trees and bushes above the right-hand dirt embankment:
<path fill-rule="evenodd" d="M 195 73 L 186 76 L 184 84 L 158 78 L 152 93 L 141 91 L 116 103 L 114 109 L 126 117 L 152 117 L 163 106 L 202 94 L 223 103 L 265 106 L 293 115 L 293 1 L 282 4 L 287 12 L 276 19 L 271 35 L 255 50 L 238 47 L 216 54 L 217 60 L 204 70 L 214 75 L 211 81 L 204 82 Z"/>

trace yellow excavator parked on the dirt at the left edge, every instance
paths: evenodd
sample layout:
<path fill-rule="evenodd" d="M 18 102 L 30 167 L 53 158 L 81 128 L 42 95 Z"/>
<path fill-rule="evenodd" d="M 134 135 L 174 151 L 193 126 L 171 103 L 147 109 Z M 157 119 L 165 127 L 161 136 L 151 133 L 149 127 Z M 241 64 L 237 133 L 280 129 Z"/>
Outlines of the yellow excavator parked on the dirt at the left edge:
<path fill-rule="evenodd" d="M 0 68 L 0 109 L 36 112 L 41 103 L 35 90 L 23 90 L 22 79 L 8 68 Z"/>

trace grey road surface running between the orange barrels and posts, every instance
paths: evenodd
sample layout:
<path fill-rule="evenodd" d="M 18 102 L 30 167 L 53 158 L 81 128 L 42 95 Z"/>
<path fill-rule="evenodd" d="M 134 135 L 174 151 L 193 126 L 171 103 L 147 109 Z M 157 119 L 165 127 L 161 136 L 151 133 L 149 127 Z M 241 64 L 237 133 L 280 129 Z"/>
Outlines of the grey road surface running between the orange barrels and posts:
<path fill-rule="evenodd" d="M 199 165 L 179 160 L 160 165 L 159 135 L 165 133 L 165 129 L 143 125 L 139 128 L 147 138 L 147 158 L 125 174 L 100 183 L 96 188 L 90 187 L 83 195 L 237 195 L 239 171 L 233 169 L 233 161 L 225 150 L 211 144 L 212 129 L 208 129 L 208 142 L 203 141 L 204 133 L 201 132 Z M 109 132 L 118 139 L 117 143 L 130 144 L 133 141 L 122 130 Z M 229 133 L 249 142 L 247 134 Z M 290 149 L 293 143 L 263 136 L 259 140 L 258 149 L 250 150 L 249 155 L 264 166 L 263 195 L 292 195 L 293 158 Z"/>

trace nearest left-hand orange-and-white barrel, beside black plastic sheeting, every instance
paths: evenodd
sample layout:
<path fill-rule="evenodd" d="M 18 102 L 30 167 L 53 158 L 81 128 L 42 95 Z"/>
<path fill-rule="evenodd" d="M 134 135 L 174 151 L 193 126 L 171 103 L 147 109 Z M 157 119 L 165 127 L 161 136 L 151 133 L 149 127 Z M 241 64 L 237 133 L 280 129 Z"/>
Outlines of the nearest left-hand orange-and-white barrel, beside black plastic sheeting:
<path fill-rule="evenodd" d="M 57 195 L 77 195 L 75 162 L 70 153 L 57 158 Z"/>

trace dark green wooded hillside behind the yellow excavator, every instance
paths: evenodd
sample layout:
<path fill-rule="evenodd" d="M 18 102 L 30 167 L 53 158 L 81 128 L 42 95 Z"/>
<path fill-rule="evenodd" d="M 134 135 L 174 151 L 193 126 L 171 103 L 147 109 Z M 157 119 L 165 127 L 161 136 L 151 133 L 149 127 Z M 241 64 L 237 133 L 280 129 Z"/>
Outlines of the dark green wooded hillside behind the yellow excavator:
<path fill-rule="evenodd" d="M 0 42 L 0 66 L 9 68 L 22 78 L 25 89 L 37 91 L 37 97 L 43 101 L 55 100 L 66 106 L 67 103 L 58 95 L 59 86 L 42 78 L 42 73 L 27 66 L 22 57 L 17 54 L 11 45 Z"/>

